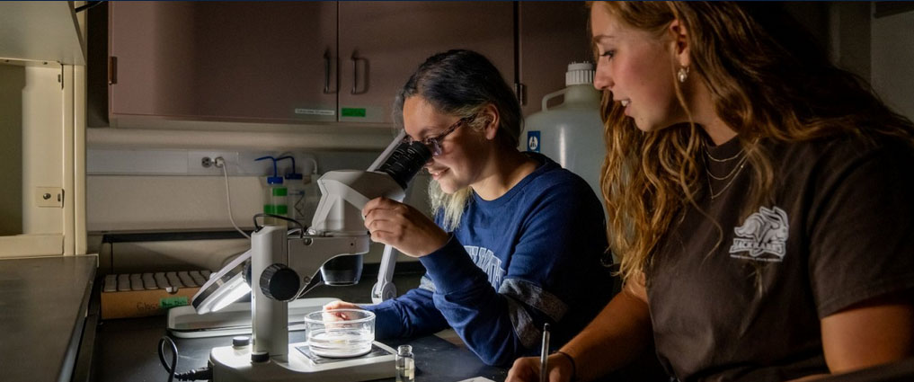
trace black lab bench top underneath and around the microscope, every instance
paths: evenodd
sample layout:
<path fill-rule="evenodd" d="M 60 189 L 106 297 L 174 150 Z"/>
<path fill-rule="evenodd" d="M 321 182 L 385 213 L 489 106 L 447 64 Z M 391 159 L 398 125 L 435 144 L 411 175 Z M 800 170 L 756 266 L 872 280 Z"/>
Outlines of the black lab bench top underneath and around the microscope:
<path fill-rule="evenodd" d="M 394 282 L 400 293 L 419 285 L 421 272 L 398 272 Z M 308 292 L 305 297 L 336 297 L 349 302 L 366 302 L 371 286 L 377 276 L 363 274 L 361 281 L 354 286 L 329 287 L 319 286 Z M 98 330 L 95 343 L 96 363 L 93 367 L 94 380 L 98 382 L 114 381 L 165 381 L 168 374 L 160 364 L 157 355 L 159 339 L 166 334 L 165 316 L 105 320 Z M 494 381 L 503 381 L 507 369 L 486 366 L 469 349 L 460 344 L 455 335 L 427 335 L 419 338 L 383 341 L 396 348 L 398 345 L 412 345 L 416 356 L 416 380 L 423 381 L 459 381 L 472 377 L 486 377 Z M 231 345 L 232 336 L 210 338 L 175 338 L 178 349 L 176 370 L 186 370 L 207 366 L 209 351 L 216 346 Z M 304 332 L 290 332 L 290 342 L 303 342 Z M 170 357 L 167 357 L 170 359 Z M 386 379 L 393 381 L 394 378 Z"/>

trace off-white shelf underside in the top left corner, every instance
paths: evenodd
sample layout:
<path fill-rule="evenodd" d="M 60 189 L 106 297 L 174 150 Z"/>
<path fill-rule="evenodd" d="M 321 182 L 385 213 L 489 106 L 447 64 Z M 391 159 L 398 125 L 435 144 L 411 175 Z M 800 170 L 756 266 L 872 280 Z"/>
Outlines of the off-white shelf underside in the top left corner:
<path fill-rule="evenodd" d="M 86 65 L 71 1 L 0 2 L 0 58 Z"/>

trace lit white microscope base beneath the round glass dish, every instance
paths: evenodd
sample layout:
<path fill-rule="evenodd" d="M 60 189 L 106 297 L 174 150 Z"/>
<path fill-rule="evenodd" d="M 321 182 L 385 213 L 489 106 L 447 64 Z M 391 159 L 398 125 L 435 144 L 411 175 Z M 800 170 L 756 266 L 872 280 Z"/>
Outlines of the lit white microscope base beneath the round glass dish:
<path fill-rule="evenodd" d="M 302 348 L 303 350 L 299 350 Z M 209 353 L 213 381 L 322 381 L 359 382 L 396 375 L 396 351 L 378 342 L 367 355 L 353 358 L 324 358 L 311 355 L 307 343 L 289 345 L 288 361 L 271 358 L 250 362 L 250 345 L 214 347 Z"/>

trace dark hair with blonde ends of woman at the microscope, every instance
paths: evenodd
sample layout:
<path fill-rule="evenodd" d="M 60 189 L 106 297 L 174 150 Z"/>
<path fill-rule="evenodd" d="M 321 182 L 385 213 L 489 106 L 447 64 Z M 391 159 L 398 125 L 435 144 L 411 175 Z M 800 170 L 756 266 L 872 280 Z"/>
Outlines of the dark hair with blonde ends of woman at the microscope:
<path fill-rule="evenodd" d="M 399 90 L 394 100 L 393 118 L 403 126 L 403 103 L 409 97 L 421 97 L 437 111 L 461 118 L 478 115 L 487 105 L 498 110 L 499 125 L 495 142 L 505 150 L 517 150 L 523 116 L 514 91 L 488 58 L 472 50 L 453 49 L 426 59 Z M 489 121 L 476 118 L 470 129 L 483 131 Z M 429 198 L 432 214 L 441 212 L 443 228 L 460 225 L 463 210 L 473 196 L 465 187 L 447 194 L 432 180 Z"/>

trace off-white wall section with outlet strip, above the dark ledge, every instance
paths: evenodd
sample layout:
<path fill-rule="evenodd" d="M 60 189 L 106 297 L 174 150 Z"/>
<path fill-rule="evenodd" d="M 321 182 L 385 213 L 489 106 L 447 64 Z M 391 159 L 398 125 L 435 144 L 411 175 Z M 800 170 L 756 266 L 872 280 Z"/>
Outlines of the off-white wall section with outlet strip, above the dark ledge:
<path fill-rule="evenodd" d="M 265 176 L 272 161 L 263 155 L 292 154 L 299 172 L 320 174 L 367 168 L 378 153 L 270 153 L 205 150 L 90 149 L 87 153 L 86 210 L 89 231 L 232 229 L 222 170 L 204 167 L 201 158 L 226 159 L 232 212 L 242 228 L 252 228 L 260 213 Z M 291 168 L 278 164 L 279 175 Z"/>

